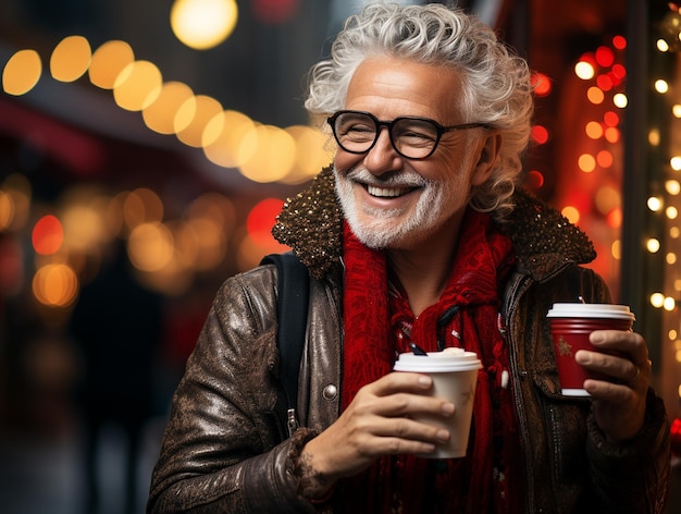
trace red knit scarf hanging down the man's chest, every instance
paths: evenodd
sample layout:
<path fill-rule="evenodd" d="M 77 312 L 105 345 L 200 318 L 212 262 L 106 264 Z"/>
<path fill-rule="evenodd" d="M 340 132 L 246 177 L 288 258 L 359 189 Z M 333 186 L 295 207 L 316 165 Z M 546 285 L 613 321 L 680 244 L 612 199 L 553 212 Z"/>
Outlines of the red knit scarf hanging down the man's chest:
<path fill-rule="evenodd" d="M 385 253 L 363 246 L 347 224 L 344 259 L 343 408 L 362 386 L 391 372 L 409 341 L 426 351 L 462 346 L 483 362 L 467 456 L 383 457 L 338 485 L 344 511 L 520 512 L 520 437 L 498 311 L 498 291 L 513 262 L 509 238 L 494 230 L 487 215 L 469 209 L 445 292 L 418 318 L 396 279 L 391 277 L 388 286 Z"/>

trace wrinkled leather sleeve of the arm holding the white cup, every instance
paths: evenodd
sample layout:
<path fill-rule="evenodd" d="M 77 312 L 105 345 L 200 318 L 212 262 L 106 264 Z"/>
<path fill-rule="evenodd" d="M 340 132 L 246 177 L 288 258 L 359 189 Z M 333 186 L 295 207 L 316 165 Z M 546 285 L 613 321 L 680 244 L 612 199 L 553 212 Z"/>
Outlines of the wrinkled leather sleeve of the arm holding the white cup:
<path fill-rule="evenodd" d="M 173 396 L 147 512 L 317 512 L 293 473 L 307 429 L 277 443 L 275 273 L 219 291 Z"/>

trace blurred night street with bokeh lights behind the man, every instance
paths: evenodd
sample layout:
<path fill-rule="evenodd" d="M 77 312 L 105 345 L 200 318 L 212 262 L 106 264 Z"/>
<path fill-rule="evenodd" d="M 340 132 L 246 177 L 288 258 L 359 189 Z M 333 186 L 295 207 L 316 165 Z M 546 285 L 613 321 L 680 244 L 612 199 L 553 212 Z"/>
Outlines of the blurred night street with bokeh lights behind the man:
<path fill-rule="evenodd" d="M 209 3 L 0 0 L 3 514 L 144 512 L 216 289 L 286 249 L 276 212 L 331 161 L 305 75 L 368 2 Z M 594 241 L 678 418 L 678 5 L 458 4 L 529 60 L 524 186 Z"/>

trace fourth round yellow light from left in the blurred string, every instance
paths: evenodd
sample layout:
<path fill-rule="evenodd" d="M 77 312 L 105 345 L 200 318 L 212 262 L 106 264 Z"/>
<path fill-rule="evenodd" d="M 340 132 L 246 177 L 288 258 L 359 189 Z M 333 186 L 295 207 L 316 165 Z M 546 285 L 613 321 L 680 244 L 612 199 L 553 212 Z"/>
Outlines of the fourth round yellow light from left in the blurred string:
<path fill-rule="evenodd" d="M 161 72 L 149 61 L 134 61 L 123 69 L 113 85 L 113 98 L 119 107 L 141 111 L 161 94 Z"/>

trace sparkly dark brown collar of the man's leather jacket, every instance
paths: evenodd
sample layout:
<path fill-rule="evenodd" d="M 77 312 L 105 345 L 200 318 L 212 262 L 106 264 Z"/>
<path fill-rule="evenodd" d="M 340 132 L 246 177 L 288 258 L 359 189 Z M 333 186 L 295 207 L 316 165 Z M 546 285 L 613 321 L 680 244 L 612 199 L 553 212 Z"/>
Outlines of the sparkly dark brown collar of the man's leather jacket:
<path fill-rule="evenodd" d="M 596 257 L 587 236 L 560 212 L 520 188 L 513 201 L 516 208 L 498 228 L 513 242 L 519 271 L 541 282 L 566 266 L 591 262 Z M 272 233 L 293 248 L 314 278 L 324 277 L 339 264 L 343 211 L 331 167 L 284 204 Z"/>

